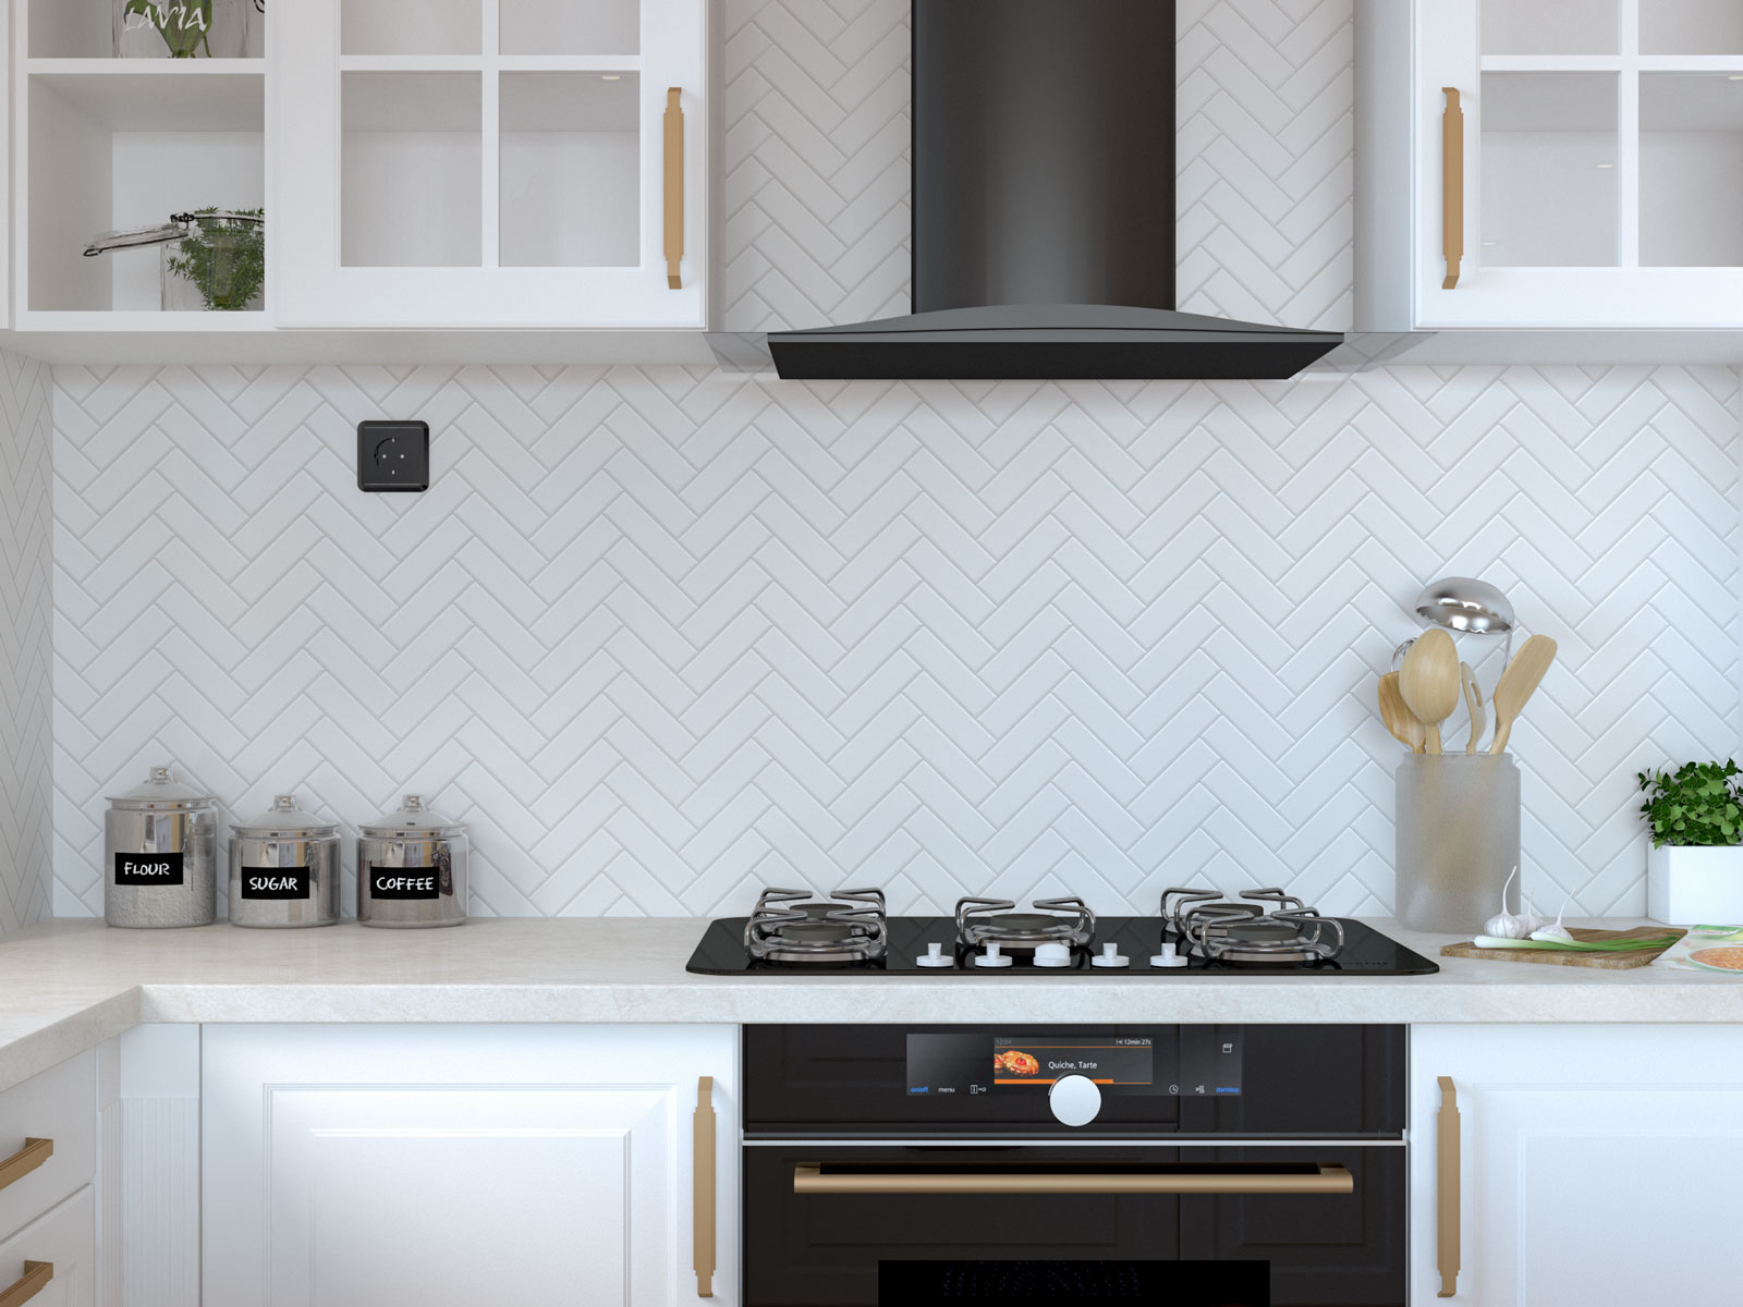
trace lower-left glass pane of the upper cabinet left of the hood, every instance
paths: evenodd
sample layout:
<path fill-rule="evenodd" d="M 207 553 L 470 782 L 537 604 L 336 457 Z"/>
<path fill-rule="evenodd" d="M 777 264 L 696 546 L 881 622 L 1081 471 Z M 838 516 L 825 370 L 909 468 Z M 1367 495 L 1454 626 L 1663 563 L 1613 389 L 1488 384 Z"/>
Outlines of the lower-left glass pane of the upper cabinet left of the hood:
<path fill-rule="evenodd" d="M 479 75 L 345 73 L 340 96 L 340 261 L 373 268 L 479 267 Z"/>

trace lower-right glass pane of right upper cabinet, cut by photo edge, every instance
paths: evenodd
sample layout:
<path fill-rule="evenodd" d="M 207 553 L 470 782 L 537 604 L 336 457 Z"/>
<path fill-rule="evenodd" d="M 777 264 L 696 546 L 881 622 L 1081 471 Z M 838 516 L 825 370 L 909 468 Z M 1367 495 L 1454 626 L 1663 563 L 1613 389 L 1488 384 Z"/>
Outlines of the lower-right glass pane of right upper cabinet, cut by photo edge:
<path fill-rule="evenodd" d="M 1743 80 L 1640 75 L 1640 265 L 1743 267 Z"/>

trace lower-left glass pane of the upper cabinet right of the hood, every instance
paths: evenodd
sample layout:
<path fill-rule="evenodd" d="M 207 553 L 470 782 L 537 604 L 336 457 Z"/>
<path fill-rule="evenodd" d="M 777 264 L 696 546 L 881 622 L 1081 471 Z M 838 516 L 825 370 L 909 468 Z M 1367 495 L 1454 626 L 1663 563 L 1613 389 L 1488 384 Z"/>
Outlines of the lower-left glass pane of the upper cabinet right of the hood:
<path fill-rule="evenodd" d="M 1483 73 L 1480 261 L 1616 267 L 1616 73 Z"/>

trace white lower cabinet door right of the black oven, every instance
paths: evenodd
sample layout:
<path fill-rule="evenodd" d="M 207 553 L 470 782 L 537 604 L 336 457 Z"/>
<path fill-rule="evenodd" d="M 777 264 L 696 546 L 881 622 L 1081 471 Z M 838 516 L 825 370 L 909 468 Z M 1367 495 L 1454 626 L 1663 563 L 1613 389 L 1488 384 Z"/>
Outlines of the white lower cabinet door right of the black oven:
<path fill-rule="evenodd" d="M 1445 1155 L 1440 1077 L 1457 1107 Z M 1740 1173 L 1743 1026 L 1410 1032 L 1417 1307 L 1441 1302 L 1454 1206 L 1454 1302 L 1731 1302 Z"/>

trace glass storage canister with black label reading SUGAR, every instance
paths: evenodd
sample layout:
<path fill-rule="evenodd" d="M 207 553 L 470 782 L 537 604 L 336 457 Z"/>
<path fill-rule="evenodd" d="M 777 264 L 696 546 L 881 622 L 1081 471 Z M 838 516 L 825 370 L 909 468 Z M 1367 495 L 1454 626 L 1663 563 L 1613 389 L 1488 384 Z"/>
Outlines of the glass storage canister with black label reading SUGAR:
<path fill-rule="evenodd" d="M 295 929 L 338 920 L 338 826 L 279 795 L 230 828 L 230 924 Z"/>

